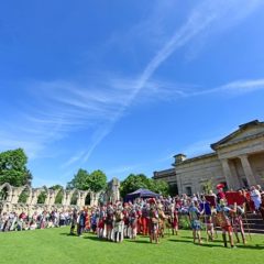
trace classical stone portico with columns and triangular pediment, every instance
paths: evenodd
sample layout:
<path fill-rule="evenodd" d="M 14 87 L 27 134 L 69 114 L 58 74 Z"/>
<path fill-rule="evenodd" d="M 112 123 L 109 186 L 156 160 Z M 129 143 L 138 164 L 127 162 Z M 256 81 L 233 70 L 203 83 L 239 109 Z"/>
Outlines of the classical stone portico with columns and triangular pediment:
<path fill-rule="evenodd" d="M 257 120 L 239 127 L 230 135 L 211 144 L 221 162 L 229 188 L 263 185 L 264 123 Z"/>

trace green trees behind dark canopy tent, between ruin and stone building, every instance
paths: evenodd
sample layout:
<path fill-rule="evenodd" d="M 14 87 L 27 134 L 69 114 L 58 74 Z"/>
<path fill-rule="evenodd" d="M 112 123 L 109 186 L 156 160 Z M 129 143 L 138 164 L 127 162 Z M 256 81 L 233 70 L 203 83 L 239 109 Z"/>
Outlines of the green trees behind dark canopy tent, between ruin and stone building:
<path fill-rule="evenodd" d="M 168 184 L 164 180 L 147 178 L 144 174 L 130 174 L 120 186 L 122 197 L 139 189 L 150 189 L 156 194 L 168 195 Z"/>

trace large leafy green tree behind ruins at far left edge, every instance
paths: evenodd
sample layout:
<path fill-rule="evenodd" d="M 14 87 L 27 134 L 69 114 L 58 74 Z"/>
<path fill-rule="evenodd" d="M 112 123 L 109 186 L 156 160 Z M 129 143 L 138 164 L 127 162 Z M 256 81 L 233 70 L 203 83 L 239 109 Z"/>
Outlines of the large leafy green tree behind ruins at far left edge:
<path fill-rule="evenodd" d="M 31 185 L 32 175 L 26 168 L 28 157 L 22 148 L 0 153 L 0 184 Z"/>

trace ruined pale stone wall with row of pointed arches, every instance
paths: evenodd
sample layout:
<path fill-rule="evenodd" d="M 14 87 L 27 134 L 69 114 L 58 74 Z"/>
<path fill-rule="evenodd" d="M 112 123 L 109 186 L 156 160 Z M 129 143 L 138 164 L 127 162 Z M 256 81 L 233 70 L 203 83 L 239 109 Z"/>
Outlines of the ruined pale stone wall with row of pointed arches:
<path fill-rule="evenodd" d="M 108 189 L 106 194 L 108 194 L 105 202 L 111 200 L 116 201 L 120 199 L 119 195 L 120 182 L 118 179 L 113 179 L 108 185 Z M 28 190 L 28 198 L 25 202 L 19 202 L 19 198 L 24 190 Z M 43 210 L 53 210 L 53 209 L 62 209 L 68 210 L 73 208 L 82 208 L 85 206 L 98 206 L 100 201 L 100 197 L 105 196 L 105 193 L 94 193 L 91 190 L 66 190 L 63 189 L 63 199 L 62 204 L 55 204 L 58 190 L 45 189 L 45 188 L 32 188 L 30 186 L 14 187 L 10 184 L 3 184 L 0 186 L 0 193 L 6 190 L 6 197 L 0 197 L 0 211 L 16 211 L 22 212 L 25 211 L 28 213 L 32 213 L 33 211 L 43 211 Z M 44 204 L 37 204 L 37 199 L 42 193 L 46 194 L 46 198 Z M 3 193 L 2 193 L 3 194 Z M 72 198 L 77 198 L 76 205 L 72 205 Z M 89 205 L 86 205 L 86 198 L 89 196 Z M 102 200 L 103 202 L 103 200 Z"/>

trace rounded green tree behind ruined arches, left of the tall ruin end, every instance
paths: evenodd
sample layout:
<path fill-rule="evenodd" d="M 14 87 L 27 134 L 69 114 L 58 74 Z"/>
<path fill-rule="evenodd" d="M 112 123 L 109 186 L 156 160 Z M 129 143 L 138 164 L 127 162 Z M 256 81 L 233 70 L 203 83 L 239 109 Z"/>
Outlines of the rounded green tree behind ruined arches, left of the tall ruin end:
<path fill-rule="evenodd" d="M 67 184 L 67 189 L 92 190 L 99 191 L 107 187 L 106 174 L 97 169 L 89 174 L 87 170 L 80 168 L 74 178 Z"/>

